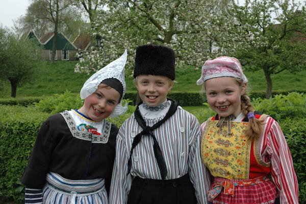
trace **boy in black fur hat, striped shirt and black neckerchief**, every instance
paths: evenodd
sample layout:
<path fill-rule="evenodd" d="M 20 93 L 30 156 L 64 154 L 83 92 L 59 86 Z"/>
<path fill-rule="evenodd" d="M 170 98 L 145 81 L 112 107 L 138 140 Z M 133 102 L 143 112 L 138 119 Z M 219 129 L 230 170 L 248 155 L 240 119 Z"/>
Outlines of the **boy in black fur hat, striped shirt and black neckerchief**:
<path fill-rule="evenodd" d="M 199 123 L 166 98 L 174 63 L 168 47 L 136 50 L 134 78 L 143 103 L 119 129 L 109 203 L 207 203 L 210 177 L 200 161 Z"/>

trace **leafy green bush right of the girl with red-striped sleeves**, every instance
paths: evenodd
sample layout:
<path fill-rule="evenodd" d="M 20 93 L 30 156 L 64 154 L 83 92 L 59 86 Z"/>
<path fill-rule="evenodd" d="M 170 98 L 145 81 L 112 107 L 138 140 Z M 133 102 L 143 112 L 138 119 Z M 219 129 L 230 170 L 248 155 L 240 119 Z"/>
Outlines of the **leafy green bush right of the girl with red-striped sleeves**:
<path fill-rule="evenodd" d="M 299 184 L 299 201 L 306 203 L 306 95 L 292 92 L 253 101 L 256 110 L 277 121 L 285 134 Z"/>

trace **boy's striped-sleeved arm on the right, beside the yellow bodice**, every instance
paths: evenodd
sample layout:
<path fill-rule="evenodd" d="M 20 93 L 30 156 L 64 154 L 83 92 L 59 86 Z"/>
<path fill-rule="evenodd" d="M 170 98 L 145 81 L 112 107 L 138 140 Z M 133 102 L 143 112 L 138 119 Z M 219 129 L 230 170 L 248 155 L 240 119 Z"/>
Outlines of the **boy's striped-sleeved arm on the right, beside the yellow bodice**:
<path fill-rule="evenodd" d="M 207 192 L 210 190 L 211 177 L 209 171 L 201 162 L 201 129 L 195 118 L 191 124 L 189 137 L 192 139 L 188 158 L 190 180 L 195 189 L 197 202 L 208 203 Z"/>

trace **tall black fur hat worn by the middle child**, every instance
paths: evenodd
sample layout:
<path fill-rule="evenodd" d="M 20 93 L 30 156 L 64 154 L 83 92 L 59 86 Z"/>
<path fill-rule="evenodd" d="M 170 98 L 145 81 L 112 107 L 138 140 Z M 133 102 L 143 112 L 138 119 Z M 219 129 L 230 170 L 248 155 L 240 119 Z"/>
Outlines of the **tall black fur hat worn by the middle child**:
<path fill-rule="evenodd" d="M 159 75 L 174 80 L 174 51 L 166 46 L 158 46 L 154 44 L 137 47 L 134 78 L 138 75 Z"/>

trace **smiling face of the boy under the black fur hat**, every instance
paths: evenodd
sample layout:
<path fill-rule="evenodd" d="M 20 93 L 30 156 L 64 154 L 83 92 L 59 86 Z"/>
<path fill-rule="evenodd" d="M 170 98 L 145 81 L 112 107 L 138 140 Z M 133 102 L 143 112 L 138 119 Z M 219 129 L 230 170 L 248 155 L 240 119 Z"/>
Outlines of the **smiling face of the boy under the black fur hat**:
<path fill-rule="evenodd" d="M 172 81 L 165 76 L 139 75 L 136 79 L 136 87 L 141 100 L 152 107 L 165 102 L 172 84 Z"/>

